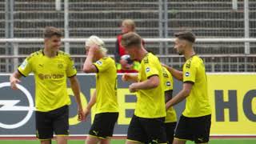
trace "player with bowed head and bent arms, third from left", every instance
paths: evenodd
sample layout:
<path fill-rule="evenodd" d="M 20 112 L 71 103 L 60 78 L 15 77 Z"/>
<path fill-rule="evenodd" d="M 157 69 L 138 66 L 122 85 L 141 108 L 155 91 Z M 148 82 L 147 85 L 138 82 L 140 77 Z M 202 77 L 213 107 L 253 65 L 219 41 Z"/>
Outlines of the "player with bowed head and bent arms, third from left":
<path fill-rule="evenodd" d="M 142 46 L 142 38 L 133 32 L 123 34 L 122 46 L 130 58 L 141 62 L 137 75 L 124 74 L 122 81 L 134 82 L 130 92 L 136 92 L 137 103 L 128 128 L 126 144 L 166 143 L 166 117 L 162 66 L 154 54 Z"/>

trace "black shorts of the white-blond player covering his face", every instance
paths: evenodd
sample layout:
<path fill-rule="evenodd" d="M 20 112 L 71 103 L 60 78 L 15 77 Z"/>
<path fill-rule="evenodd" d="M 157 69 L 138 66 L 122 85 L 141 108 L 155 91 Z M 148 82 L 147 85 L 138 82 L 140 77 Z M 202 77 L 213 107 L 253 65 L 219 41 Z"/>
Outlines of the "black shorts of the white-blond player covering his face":
<path fill-rule="evenodd" d="M 118 121 L 118 113 L 95 114 L 94 123 L 90 127 L 89 135 L 97 138 L 112 137 L 114 124 Z"/>

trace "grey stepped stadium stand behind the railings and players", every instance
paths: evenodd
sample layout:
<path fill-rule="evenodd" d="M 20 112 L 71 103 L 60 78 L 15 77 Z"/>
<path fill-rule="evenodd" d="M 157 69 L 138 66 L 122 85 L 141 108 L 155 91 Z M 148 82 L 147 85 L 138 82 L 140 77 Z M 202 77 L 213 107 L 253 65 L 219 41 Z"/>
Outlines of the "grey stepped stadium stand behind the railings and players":
<path fill-rule="evenodd" d="M 162 3 L 161 2 L 166 2 Z M 162 7 L 167 4 L 167 11 Z M 0 1 L 0 38 L 6 38 L 6 1 Z M 10 5 L 10 3 L 9 3 Z M 9 6 L 8 5 L 8 6 Z M 15 0 L 13 11 L 14 38 L 42 38 L 45 26 L 64 29 L 64 10 L 55 10 L 52 0 Z M 250 37 L 256 36 L 256 1 L 249 1 Z M 9 11 L 10 12 L 10 11 Z M 166 12 L 168 19 L 161 14 Z M 9 14 L 10 17 L 10 14 Z M 70 0 L 69 34 L 70 38 L 88 38 L 95 34 L 101 38 L 116 38 L 120 33 L 122 19 L 132 18 L 137 32 L 142 38 L 168 38 L 179 30 L 193 30 L 198 38 L 243 38 L 243 1 L 238 0 L 238 10 L 232 9 L 230 0 Z M 8 21 L 10 22 L 10 21 Z M 166 23 L 167 22 L 167 23 Z M 168 25 L 167 29 L 161 25 Z M 114 42 L 107 42 L 110 54 L 114 53 Z M 70 43 L 70 54 L 81 55 L 74 58 L 78 70 L 84 61 L 84 43 Z M 0 55 L 12 55 L 11 45 L 1 45 Z M 146 47 L 161 55 L 162 62 L 181 68 L 184 61 L 177 55 L 171 42 L 149 42 Z M 159 48 L 160 47 L 160 48 Z M 250 42 L 250 54 L 245 54 L 243 42 L 200 42 L 196 51 L 206 61 L 208 72 L 256 71 L 256 42 Z M 30 54 L 42 48 L 42 43 L 19 43 L 18 54 Z M 63 46 L 62 46 L 63 48 Z M 18 62 L 22 62 L 19 58 Z M 0 72 L 10 72 L 13 60 L 0 58 Z"/>

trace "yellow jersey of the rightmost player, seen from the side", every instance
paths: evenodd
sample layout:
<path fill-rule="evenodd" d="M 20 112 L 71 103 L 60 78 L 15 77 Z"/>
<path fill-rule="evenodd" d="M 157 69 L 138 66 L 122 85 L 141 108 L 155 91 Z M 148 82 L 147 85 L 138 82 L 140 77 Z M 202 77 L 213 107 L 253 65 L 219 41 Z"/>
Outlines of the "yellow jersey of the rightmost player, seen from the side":
<path fill-rule="evenodd" d="M 186 117 L 202 117 L 211 114 L 209 96 L 207 92 L 207 78 L 205 65 L 198 55 L 186 60 L 183 65 L 183 82 L 192 82 L 192 90 L 186 98 Z"/>

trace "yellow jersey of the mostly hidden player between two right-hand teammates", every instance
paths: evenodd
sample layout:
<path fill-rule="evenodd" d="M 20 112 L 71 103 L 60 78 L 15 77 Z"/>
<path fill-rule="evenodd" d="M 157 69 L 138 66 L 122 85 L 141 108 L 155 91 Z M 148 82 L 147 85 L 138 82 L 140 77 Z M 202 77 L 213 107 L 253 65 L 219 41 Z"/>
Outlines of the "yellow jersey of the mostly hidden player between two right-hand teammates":
<path fill-rule="evenodd" d="M 163 73 L 163 78 L 164 78 L 164 86 L 165 89 L 164 91 L 168 91 L 168 90 L 174 90 L 174 80 L 172 75 L 170 74 L 170 72 L 168 70 L 166 70 L 166 67 L 162 66 L 162 73 Z M 165 94 L 165 98 L 166 98 L 166 94 Z M 166 111 L 166 120 L 165 123 L 167 122 L 177 122 L 177 116 L 176 116 L 176 112 L 174 110 L 174 107 L 171 106 L 167 111 Z"/>

